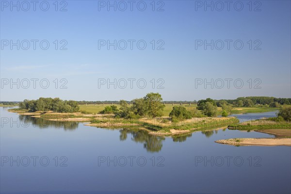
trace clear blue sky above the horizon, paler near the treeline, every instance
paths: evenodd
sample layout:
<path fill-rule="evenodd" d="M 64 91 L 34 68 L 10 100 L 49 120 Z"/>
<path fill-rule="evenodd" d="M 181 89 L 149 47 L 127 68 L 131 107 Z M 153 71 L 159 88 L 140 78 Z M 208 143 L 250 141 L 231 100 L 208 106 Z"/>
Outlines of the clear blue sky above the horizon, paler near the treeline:
<path fill-rule="evenodd" d="M 2 101 L 291 97 L 290 0 L 26 2 L 0 0 Z"/>

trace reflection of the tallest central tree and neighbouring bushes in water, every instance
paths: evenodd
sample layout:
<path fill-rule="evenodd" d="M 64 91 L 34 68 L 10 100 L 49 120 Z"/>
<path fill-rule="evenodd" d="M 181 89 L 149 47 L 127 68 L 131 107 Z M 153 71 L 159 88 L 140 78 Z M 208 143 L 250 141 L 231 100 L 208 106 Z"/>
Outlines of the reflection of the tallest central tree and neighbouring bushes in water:
<path fill-rule="evenodd" d="M 119 131 L 119 138 L 121 141 L 126 140 L 127 135 L 131 134 L 131 140 L 138 143 L 143 143 L 144 147 L 149 152 L 159 152 L 162 149 L 162 141 L 165 139 L 164 137 L 150 135 L 147 131 L 142 129 L 124 128 Z"/>

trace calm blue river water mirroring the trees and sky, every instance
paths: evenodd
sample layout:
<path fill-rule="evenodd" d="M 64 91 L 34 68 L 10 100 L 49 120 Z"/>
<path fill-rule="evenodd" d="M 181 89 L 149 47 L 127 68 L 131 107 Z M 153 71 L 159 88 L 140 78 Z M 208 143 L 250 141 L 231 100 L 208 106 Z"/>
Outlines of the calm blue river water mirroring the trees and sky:
<path fill-rule="evenodd" d="M 0 193 L 291 193 L 290 146 L 214 143 L 272 135 L 219 129 L 163 138 L 7 109 L 0 107 Z"/>

